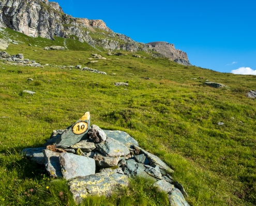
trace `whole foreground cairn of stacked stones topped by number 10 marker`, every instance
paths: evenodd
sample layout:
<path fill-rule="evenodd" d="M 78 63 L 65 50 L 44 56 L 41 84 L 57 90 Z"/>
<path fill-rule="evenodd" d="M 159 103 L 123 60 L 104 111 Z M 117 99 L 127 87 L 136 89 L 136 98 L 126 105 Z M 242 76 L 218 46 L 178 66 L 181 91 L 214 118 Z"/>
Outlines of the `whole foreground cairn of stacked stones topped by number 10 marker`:
<path fill-rule="evenodd" d="M 143 176 L 168 193 L 171 205 L 189 205 L 167 164 L 140 148 L 128 133 L 90 127 L 90 122 L 86 112 L 65 130 L 53 130 L 44 147 L 26 148 L 22 154 L 44 164 L 50 176 L 68 180 L 77 203 L 87 196 L 111 196 L 117 187 L 129 184 L 129 177 Z"/>

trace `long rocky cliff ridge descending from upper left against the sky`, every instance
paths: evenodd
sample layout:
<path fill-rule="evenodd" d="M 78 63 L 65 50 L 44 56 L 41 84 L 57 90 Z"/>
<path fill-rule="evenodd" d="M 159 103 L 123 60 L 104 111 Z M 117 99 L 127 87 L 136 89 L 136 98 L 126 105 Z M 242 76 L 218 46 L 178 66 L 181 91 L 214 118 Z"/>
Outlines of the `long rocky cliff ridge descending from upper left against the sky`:
<path fill-rule="evenodd" d="M 125 35 L 114 33 L 102 20 L 73 18 L 65 14 L 58 3 L 48 0 L 1 0 L 0 27 L 9 27 L 30 37 L 39 36 L 52 40 L 54 36 L 77 38 L 78 41 L 87 42 L 94 48 L 101 47 L 106 50 L 156 50 L 172 60 L 188 61 L 187 54 L 175 49 L 173 44 L 135 42 Z"/>

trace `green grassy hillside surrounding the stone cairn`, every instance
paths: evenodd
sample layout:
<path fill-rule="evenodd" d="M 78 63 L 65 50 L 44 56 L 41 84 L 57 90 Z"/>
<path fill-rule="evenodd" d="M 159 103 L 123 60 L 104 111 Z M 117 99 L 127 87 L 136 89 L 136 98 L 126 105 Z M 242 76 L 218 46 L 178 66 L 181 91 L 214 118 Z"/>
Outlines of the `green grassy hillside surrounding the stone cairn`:
<path fill-rule="evenodd" d="M 143 148 L 173 167 L 174 178 L 186 188 L 191 205 L 256 204 L 256 104 L 245 96 L 248 90 L 255 90 L 255 76 L 186 67 L 165 58 L 150 59 L 142 52 L 140 55 L 147 59 L 134 58 L 127 52 L 121 57 L 98 52 L 108 60 L 89 63 L 95 49 L 86 43 L 69 39 L 70 50 L 47 51 L 40 47 L 63 46 L 64 39 L 52 42 L 8 32 L 11 39 L 24 42 L 11 44 L 7 49 L 11 55 L 22 53 L 25 58 L 54 65 L 82 64 L 108 75 L 60 70 L 56 66 L 0 64 L 0 117 L 7 117 L 0 121 L 2 205 L 44 205 L 52 200 L 65 205 L 70 201 L 68 195 L 62 201 L 63 197 L 46 190 L 50 180 L 40 175 L 42 168 L 16 152 L 42 145 L 53 129 L 66 128 L 85 111 L 91 112 L 93 124 L 128 132 Z M 81 51 L 84 49 L 89 52 Z M 205 87 L 201 76 L 230 88 Z M 34 81 L 27 82 L 27 78 Z M 115 87 L 118 81 L 128 82 L 129 87 Z M 23 90 L 36 94 L 22 94 Z M 224 125 L 218 126 L 218 122 Z M 57 188 L 59 185 L 51 183 L 54 190 L 64 191 L 65 186 Z M 31 188 L 31 196 L 24 195 Z M 150 205 L 158 204 L 155 197 L 146 197 L 153 199 Z M 131 201 L 133 196 L 127 198 Z"/>

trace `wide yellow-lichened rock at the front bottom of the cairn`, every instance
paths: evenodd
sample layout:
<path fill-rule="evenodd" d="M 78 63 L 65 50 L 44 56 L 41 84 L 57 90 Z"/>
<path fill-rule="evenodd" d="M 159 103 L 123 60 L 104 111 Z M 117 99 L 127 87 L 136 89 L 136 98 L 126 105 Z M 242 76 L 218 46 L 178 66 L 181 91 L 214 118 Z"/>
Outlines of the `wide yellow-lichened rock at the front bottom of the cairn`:
<path fill-rule="evenodd" d="M 68 185 L 74 200 L 79 204 L 87 196 L 111 196 L 116 187 L 128 185 L 128 177 L 115 172 L 97 173 L 71 179 Z"/>

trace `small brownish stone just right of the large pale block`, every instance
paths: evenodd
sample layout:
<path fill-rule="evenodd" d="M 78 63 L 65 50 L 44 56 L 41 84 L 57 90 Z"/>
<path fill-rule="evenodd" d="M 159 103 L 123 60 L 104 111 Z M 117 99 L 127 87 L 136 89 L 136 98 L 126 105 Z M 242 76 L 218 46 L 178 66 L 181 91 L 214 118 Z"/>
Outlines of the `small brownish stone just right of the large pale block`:
<path fill-rule="evenodd" d="M 97 166 L 100 167 L 112 167 L 118 164 L 118 157 L 106 157 L 102 153 L 96 151 L 94 160 Z"/>

